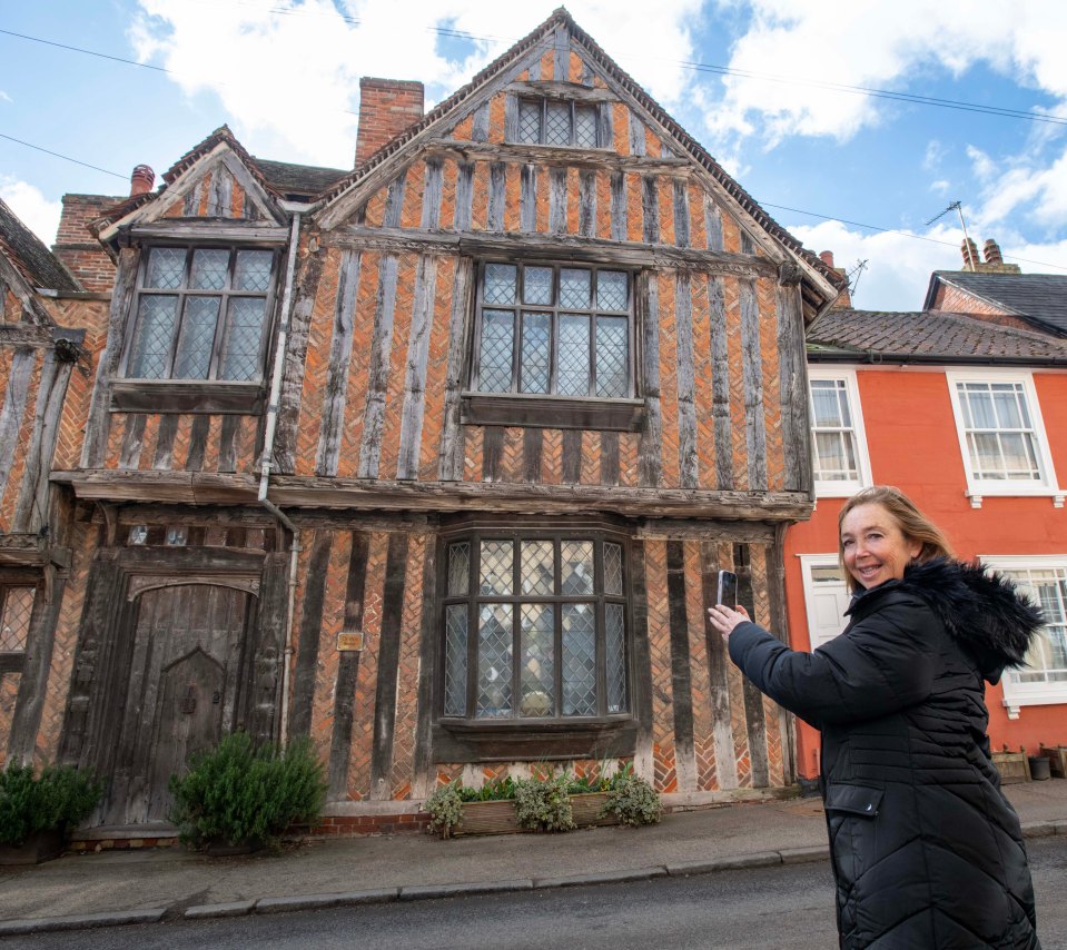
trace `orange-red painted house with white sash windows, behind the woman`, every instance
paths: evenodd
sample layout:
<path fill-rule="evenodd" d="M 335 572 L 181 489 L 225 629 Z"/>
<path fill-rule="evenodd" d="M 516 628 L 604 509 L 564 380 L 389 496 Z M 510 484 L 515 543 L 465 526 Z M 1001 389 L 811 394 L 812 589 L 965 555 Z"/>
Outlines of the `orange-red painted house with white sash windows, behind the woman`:
<path fill-rule="evenodd" d="M 837 556 L 843 499 L 899 486 L 958 556 L 1002 571 L 1045 610 L 1029 667 L 986 696 L 992 749 L 1036 753 L 1067 744 L 1067 342 L 1055 327 L 1067 311 L 1049 293 L 1067 281 L 1000 268 L 935 273 L 918 313 L 836 308 L 810 326 L 818 505 L 787 534 L 786 587 L 794 649 L 837 635 L 849 602 Z M 818 750 L 801 723 L 801 776 L 818 774 Z"/>

